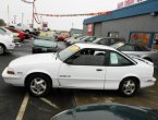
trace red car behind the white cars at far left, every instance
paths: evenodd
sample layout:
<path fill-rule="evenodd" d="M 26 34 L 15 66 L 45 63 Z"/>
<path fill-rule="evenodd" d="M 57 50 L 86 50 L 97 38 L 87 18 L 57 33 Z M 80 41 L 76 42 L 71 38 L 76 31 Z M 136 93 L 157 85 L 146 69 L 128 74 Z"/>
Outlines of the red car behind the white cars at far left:
<path fill-rule="evenodd" d="M 20 29 L 16 29 L 16 28 L 13 28 L 13 27 L 5 27 L 5 28 L 8 28 L 9 31 L 11 31 L 13 33 L 17 33 L 19 34 L 17 37 L 20 37 L 21 41 L 24 41 L 24 39 L 25 39 L 24 32 L 21 32 Z"/>

